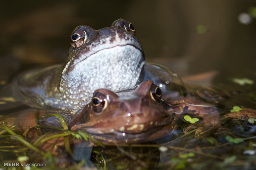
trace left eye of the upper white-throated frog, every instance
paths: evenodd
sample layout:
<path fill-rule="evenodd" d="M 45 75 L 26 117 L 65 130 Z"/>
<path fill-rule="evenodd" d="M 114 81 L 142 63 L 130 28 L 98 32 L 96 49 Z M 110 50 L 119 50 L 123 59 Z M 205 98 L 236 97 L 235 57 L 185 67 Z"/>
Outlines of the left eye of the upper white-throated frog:
<path fill-rule="evenodd" d="M 77 29 L 71 34 L 70 44 L 73 48 L 80 47 L 83 42 L 87 39 L 87 35 L 84 30 Z"/>

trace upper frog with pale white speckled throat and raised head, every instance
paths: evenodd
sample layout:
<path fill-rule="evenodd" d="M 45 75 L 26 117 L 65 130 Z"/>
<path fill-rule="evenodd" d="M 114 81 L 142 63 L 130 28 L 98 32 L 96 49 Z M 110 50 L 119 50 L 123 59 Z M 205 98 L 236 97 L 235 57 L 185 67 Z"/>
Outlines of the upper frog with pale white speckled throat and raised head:
<path fill-rule="evenodd" d="M 137 83 L 145 57 L 129 21 L 119 19 L 100 30 L 78 26 L 70 42 L 64 65 L 17 76 L 13 91 L 20 101 L 36 108 L 76 113 L 96 89 L 119 92 Z"/>

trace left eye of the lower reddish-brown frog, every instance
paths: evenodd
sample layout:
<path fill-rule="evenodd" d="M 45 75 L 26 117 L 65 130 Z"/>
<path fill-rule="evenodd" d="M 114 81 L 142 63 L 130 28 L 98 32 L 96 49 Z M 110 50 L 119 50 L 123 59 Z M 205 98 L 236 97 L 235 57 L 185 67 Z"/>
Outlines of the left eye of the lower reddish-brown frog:
<path fill-rule="evenodd" d="M 107 99 L 102 93 L 96 93 L 92 97 L 92 108 L 96 113 L 100 113 L 107 108 Z"/>

